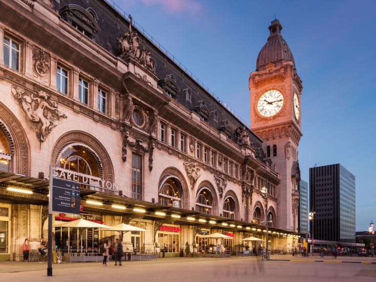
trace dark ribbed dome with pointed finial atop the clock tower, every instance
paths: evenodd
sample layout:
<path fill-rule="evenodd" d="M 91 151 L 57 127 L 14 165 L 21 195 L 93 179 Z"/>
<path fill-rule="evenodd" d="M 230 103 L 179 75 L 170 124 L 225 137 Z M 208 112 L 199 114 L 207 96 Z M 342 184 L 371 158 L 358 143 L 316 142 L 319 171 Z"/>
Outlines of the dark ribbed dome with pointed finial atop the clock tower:
<path fill-rule="evenodd" d="M 257 56 L 256 71 L 265 69 L 265 66 L 271 62 L 281 64 L 290 60 L 295 64 L 289 45 L 282 38 L 282 25 L 279 20 L 273 20 L 269 26 L 269 30 L 270 36 L 268 37 L 268 41 Z"/>

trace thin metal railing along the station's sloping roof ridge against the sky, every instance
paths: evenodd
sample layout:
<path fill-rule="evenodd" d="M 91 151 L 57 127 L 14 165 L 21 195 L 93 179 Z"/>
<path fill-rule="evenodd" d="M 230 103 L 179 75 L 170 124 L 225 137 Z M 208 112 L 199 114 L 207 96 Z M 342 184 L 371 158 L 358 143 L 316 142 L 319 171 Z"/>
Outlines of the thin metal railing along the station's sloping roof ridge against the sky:
<path fill-rule="evenodd" d="M 105 0 L 110 6 L 112 6 L 121 16 L 124 17 L 125 20 L 128 17 L 128 14 L 125 13 L 125 11 L 119 7 L 113 0 Z M 211 95 L 215 100 L 217 100 L 222 106 L 224 106 L 232 115 L 234 115 L 235 118 L 237 118 L 239 121 L 243 122 L 245 125 L 250 127 L 248 122 L 244 121 L 242 118 L 240 118 L 229 106 L 226 105 L 218 96 L 214 94 L 213 91 L 210 90 L 210 88 L 198 77 L 196 77 L 188 68 L 182 64 L 179 60 L 175 58 L 170 52 L 167 51 L 161 43 L 159 43 L 155 38 L 153 38 L 147 31 L 140 25 L 138 24 L 135 20 L 132 19 L 133 25 L 140 31 L 148 40 L 150 40 L 157 48 L 159 48 L 168 58 L 173 60 L 183 71 L 185 71 L 194 81 L 196 81 L 202 88 L 204 88 L 209 95 Z"/>

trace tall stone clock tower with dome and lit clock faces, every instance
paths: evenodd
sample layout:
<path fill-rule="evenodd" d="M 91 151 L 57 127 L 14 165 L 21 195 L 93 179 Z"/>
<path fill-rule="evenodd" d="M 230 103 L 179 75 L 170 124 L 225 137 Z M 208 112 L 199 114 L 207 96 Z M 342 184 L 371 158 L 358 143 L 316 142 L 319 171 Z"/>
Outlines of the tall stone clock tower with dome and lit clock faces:
<path fill-rule="evenodd" d="M 251 130 L 264 142 L 267 163 L 279 173 L 275 227 L 298 231 L 300 170 L 298 145 L 301 133 L 303 85 L 296 73 L 292 52 L 281 35 L 282 25 L 273 20 L 270 36 L 249 80 Z"/>

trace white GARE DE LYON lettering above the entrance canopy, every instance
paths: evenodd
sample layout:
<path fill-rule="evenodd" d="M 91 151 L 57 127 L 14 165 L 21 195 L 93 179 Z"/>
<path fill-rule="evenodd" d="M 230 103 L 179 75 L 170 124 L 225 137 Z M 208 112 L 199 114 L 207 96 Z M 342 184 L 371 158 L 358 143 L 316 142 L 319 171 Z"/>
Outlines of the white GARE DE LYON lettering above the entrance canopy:
<path fill-rule="evenodd" d="M 83 174 L 83 173 L 76 172 L 76 171 L 67 170 L 67 169 L 60 168 L 60 167 L 53 168 L 53 177 L 78 182 L 80 184 L 92 186 L 95 188 L 118 191 L 118 188 L 115 185 L 115 183 L 112 183 L 110 181 L 105 181 L 99 177 Z"/>

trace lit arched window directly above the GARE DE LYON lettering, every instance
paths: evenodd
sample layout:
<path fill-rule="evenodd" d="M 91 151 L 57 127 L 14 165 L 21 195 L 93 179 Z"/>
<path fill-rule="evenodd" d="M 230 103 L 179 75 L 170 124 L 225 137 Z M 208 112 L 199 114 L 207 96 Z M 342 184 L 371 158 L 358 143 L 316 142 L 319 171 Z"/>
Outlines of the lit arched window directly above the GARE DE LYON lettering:
<path fill-rule="evenodd" d="M 96 154 L 90 148 L 79 144 L 72 144 L 63 149 L 56 166 L 98 179 L 102 174 L 101 163 Z"/>

